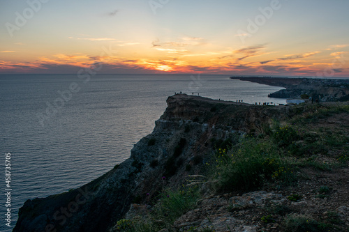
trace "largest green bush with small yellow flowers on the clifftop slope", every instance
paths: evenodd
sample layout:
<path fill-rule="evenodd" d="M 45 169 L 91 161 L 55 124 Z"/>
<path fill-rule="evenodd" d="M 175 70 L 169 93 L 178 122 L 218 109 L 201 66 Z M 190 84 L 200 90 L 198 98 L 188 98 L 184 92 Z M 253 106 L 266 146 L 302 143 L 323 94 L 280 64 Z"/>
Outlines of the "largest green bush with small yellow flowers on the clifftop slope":
<path fill-rule="evenodd" d="M 244 139 L 232 154 L 218 150 L 214 168 L 216 188 L 223 192 L 253 190 L 271 180 L 280 167 L 289 170 L 287 166 L 273 144 Z"/>

